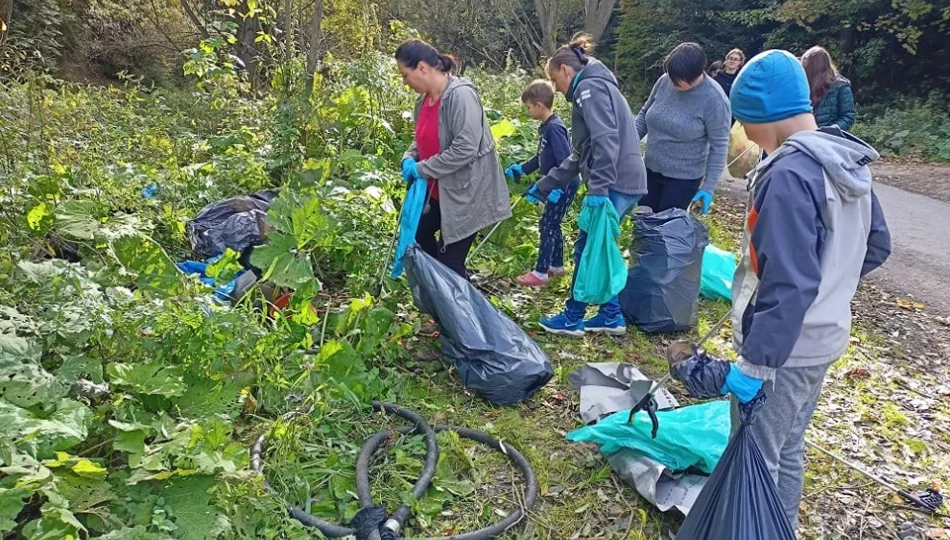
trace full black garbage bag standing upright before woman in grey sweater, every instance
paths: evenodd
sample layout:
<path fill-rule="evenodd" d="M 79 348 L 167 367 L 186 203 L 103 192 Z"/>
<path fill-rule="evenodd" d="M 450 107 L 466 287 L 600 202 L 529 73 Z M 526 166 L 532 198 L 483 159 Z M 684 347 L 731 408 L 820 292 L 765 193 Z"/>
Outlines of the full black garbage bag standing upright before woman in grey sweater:
<path fill-rule="evenodd" d="M 620 292 L 624 318 L 644 332 L 693 328 L 709 230 L 679 208 L 634 219 L 631 267 Z"/>

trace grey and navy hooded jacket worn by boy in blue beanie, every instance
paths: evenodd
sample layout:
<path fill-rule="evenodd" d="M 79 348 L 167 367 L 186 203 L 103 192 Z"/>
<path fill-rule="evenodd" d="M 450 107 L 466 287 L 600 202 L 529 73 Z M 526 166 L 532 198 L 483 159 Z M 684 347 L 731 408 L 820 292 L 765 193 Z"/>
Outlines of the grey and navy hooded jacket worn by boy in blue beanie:
<path fill-rule="evenodd" d="M 739 369 L 829 364 L 848 348 L 851 299 L 890 254 L 871 189 L 878 153 L 837 128 L 790 137 L 751 173 L 743 257 L 732 289 Z"/>

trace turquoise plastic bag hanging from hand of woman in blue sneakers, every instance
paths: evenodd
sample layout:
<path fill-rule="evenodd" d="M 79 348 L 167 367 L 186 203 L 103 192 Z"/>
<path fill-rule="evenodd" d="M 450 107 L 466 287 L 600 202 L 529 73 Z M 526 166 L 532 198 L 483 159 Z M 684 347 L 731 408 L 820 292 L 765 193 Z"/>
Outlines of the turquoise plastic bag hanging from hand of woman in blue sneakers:
<path fill-rule="evenodd" d="M 574 299 L 605 304 L 627 284 L 627 264 L 617 246 L 620 216 L 612 204 L 584 206 L 577 224 L 587 233 L 587 244 L 577 267 Z"/>

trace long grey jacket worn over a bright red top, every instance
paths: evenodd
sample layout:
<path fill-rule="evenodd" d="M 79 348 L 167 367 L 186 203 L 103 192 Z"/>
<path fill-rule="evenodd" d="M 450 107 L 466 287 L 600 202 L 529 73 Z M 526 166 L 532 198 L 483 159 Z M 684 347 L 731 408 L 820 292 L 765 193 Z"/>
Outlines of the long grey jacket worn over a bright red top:
<path fill-rule="evenodd" d="M 416 103 L 416 118 L 422 106 Z M 454 244 L 511 217 L 505 173 L 475 86 L 450 77 L 439 107 L 438 154 L 417 165 L 423 178 L 439 179 L 442 241 Z M 415 141 L 405 157 L 419 160 Z"/>

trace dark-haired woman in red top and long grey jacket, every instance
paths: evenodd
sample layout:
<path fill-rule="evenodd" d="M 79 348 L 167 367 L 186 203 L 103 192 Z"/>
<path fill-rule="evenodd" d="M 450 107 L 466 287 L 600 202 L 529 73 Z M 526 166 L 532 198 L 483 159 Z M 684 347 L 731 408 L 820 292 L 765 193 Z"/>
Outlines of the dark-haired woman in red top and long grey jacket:
<path fill-rule="evenodd" d="M 396 49 L 396 63 L 403 81 L 420 94 L 415 137 L 402 161 L 407 182 L 426 179 L 429 185 L 416 242 L 467 277 L 465 258 L 475 234 L 511 217 L 495 140 L 475 86 L 452 75 L 455 59 L 412 39 Z"/>

